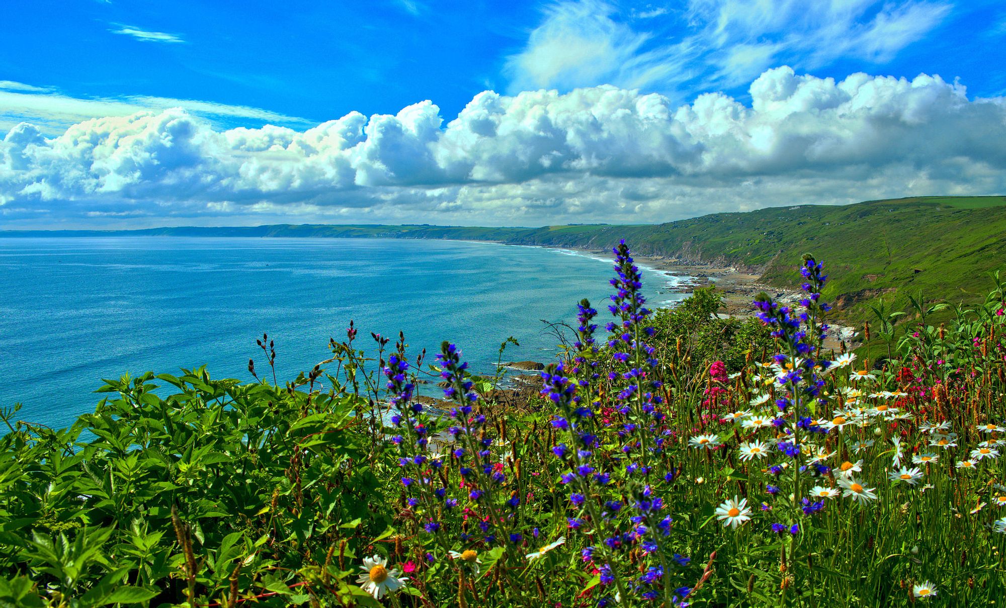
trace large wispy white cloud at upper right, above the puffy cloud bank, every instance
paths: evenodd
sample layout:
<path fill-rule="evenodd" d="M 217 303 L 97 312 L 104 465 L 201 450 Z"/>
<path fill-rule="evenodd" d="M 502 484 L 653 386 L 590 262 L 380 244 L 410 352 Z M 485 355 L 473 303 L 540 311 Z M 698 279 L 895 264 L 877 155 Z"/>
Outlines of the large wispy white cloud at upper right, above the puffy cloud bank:
<path fill-rule="evenodd" d="M 511 92 L 601 84 L 665 94 L 732 89 L 781 63 L 886 62 L 951 8 L 920 0 L 690 0 L 684 11 L 629 11 L 626 20 L 604 0 L 560 0 L 546 6 L 506 72 Z M 641 17 L 648 18 L 632 21 Z"/>

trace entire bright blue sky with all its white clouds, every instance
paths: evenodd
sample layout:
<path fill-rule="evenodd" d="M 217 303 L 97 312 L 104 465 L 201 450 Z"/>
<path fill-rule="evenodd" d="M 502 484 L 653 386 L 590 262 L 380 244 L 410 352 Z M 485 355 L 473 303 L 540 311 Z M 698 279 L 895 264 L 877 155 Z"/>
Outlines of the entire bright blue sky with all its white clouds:
<path fill-rule="evenodd" d="M 12 3 L 0 229 L 1006 193 L 986 0 Z"/>

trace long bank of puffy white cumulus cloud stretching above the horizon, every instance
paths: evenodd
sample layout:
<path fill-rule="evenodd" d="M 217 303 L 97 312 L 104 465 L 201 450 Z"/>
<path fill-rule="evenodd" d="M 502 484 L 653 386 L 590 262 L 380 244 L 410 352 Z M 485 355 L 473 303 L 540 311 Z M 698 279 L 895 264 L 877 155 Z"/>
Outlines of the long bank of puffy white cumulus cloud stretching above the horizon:
<path fill-rule="evenodd" d="M 55 137 L 25 123 L 0 143 L 0 213 L 527 225 L 1006 190 L 1006 100 L 936 75 L 836 82 L 788 66 L 749 95 L 678 106 L 613 86 L 487 91 L 447 124 L 428 101 L 306 131 L 220 130 L 180 108 Z"/>

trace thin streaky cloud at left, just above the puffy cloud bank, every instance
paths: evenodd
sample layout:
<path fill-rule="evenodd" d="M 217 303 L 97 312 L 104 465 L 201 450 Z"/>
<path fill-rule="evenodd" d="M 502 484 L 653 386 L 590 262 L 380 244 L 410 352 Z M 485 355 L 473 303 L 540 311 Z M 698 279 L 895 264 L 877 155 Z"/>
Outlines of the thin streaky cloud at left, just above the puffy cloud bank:
<path fill-rule="evenodd" d="M 0 133 L 18 123 L 29 122 L 43 133 L 53 135 L 93 118 L 130 116 L 137 112 L 160 112 L 168 108 L 183 108 L 221 126 L 234 126 L 242 121 L 292 127 L 313 124 L 303 118 L 249 106 L 151 96 L 79 98 L 67 96 L 54 88 L 0 81 Z"/>

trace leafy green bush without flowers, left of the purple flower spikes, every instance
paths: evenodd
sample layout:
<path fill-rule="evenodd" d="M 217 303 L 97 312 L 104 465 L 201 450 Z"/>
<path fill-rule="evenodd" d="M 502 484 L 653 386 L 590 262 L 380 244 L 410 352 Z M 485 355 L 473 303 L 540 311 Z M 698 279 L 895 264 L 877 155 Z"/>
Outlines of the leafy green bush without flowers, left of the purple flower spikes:
<path fill-rule="evenodd" d="M 355 555 L 391 522 L 373 470 L 351 466 L 379 458 L 353 430 L 356 397 L 202 368 L 106 383 L 112 397 L 72 428 L 19 423 L 0 439 L 0 572 L 31 572 L 53 605 L 228 605 L 234 590 L 302 604 L 288 584 L 306 568 L 341 581 L 329 550 Z M 41 605 L 40 589 L 2 580 L 0 605 Z"/>

